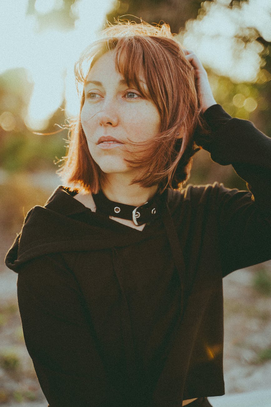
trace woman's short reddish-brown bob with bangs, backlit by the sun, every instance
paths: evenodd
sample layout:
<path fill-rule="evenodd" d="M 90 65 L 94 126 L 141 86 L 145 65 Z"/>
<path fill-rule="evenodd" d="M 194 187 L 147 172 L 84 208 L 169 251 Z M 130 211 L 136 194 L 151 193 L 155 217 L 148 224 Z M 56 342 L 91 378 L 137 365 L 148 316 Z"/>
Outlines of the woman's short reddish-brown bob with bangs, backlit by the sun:
<path fill-rule="evenodd" d="M 158 184 L 160 191 L 167 187 L 180 188 L 188 179 L 191 157 L 199 148 L 193 141 L 195 128 L 204 131 L 194 69 L 174 39 L 167 24 L 152 26 L 145 22 L 118 22 L 102 31 L 101 39 L 81 55 L 75 65 L 78 85 L 84 85 L 89 70 L 104 53 L 115 52 L 116 70 L 132 85 L 150 98 L 160 114 L 160 133 L 141 145 L 141 154 L 126 160 L 130 166 L 141 168 L 138 183 L 143 187 Z M 148 94 L 139 77 L 145 77 Z M 82 90 L 80 112 L 84 105 Z M 151 118 L 150 118 L 151 120 Z M 70 128 L 69 150 L 59 170 L 66 186 L 98 193 L 104 173 L 88 149 L 80 115 Z"/>

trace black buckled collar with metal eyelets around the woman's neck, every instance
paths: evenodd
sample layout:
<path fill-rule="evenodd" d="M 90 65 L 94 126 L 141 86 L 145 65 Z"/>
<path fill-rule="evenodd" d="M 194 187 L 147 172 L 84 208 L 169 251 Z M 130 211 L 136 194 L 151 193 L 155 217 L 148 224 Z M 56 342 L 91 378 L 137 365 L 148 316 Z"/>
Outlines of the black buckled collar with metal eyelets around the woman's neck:
<path fill-rule="evenodd" d="M 98 194 L 92 195 L 97 212 L 117 218 L 129 219 L 137 226 L 143 225 L 143 223 L 151 223 L 161 216 L 164 196 L 164 193 L 156 193 L 156 195 L 145 204 L 132 206 L 110 201 L 106 198 L 102 190 L 100 190 Z"/>

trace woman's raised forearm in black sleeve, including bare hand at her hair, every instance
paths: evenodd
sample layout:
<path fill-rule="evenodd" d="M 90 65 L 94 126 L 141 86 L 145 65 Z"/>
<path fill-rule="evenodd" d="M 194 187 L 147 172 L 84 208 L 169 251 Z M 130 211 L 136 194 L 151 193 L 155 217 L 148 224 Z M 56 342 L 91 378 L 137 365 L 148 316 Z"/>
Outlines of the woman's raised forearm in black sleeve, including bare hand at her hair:
<path fill-rule="evenodd" d="M 195 80 L 202 114 L 210 134 L 195 131 L 195 142 L 210 152 L 213 161 L 232 164 L 236 173 L 247 182 L 252 199 L 262 210 L 271 212 L 271 138 L 265 136 L 248 120 L 232 118 L 216 104 L 207 72 L 197 56 L 183 50 L 195 70 Z"/>

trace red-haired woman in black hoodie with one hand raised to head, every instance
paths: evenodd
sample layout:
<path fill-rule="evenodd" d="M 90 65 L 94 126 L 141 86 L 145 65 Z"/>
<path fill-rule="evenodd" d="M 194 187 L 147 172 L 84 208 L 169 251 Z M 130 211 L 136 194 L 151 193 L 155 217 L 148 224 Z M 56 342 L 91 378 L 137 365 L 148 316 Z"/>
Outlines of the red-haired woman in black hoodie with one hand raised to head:
<path fill-rule="evenodd" d="M 50 407 L 210 406 L 224 394 L 222 278 L 271 258 L 271 140 L 216 104 L 165 25 L 109 27 L 76 75 L 65 187 L 6 258 L 41 388 Z M 249 191 L 172 189 L 195 142 Z"/>

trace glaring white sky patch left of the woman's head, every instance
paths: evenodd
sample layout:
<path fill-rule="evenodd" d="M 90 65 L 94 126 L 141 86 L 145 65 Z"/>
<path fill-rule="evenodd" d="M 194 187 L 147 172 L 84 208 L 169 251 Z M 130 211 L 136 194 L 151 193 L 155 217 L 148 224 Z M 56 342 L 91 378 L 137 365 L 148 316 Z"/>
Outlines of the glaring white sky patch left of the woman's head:
<path fill-rule="evenodd" d="M 77 0 L 72 13 L 78 16 L 70 31 L 52 28 L 38 32 L 37 19 L 26 15 L 28 0 L 1 0 L 0 24 L 0 74 L 7 69 L 24 67 L 29 71 L 35 87 L 28 107 L 26 125 L 43 129 L 47 120 L 61 105 L 63 92 L 67 115 L 78 109 L 74 80 L 74 63 L 95 39 L 95 32 L 102 28 L 106 13 L 115 0 Z M 35 10 L 46 14 L 61 8 L 62 0 L 36 0 Z M 64 90 L 66 83 L 66 91 Z"/>

